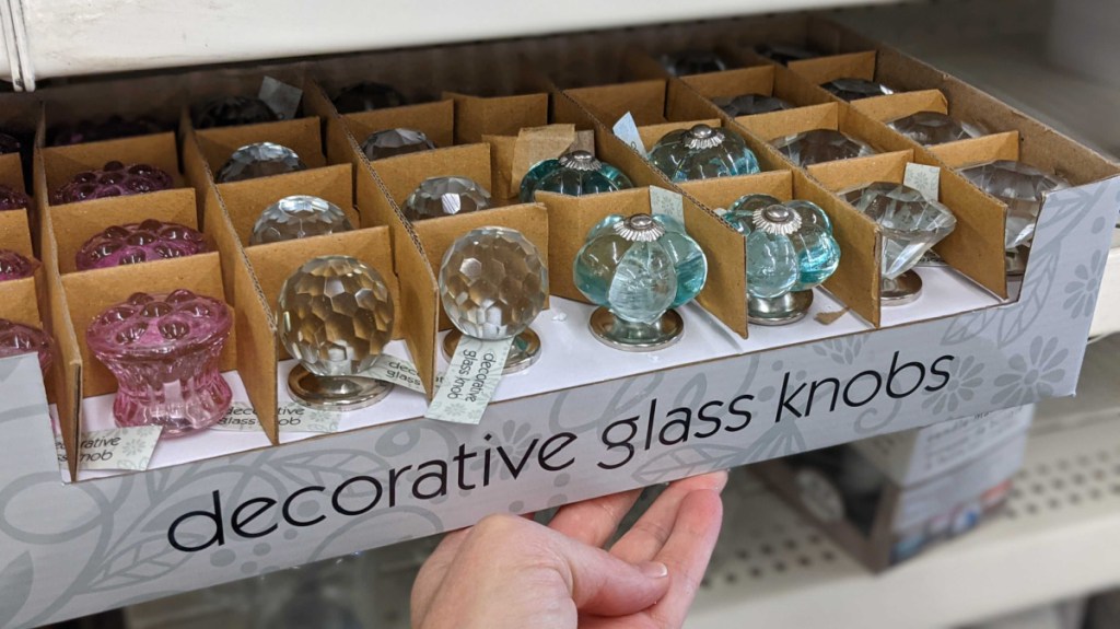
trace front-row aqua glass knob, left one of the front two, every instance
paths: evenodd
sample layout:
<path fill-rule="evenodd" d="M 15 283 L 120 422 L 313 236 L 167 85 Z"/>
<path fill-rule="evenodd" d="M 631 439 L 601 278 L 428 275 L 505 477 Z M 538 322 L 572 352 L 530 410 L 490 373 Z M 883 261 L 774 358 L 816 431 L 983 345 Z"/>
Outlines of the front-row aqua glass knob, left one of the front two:
<path fill-rule="evenodd" d="M 683 226 L 664 216 L 605 218 L 576 254 L 576 288 L 599 308 L 591 332 L 603 342 L 648 351 L 675 342 L 684 321 L 673 310 L 708 278 L 708 260 Z"/>

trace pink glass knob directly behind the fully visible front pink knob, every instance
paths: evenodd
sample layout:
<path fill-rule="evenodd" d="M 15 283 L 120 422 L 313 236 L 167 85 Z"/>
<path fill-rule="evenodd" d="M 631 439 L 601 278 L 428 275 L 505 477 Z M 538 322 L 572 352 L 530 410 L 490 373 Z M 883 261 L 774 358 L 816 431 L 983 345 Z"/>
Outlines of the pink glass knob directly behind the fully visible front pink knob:
<path fill-rule="evenodd" d="M 209 251 L 203 235 L 178 223 L 149 218 L 143 223 L 113 225 L 82 245 L 74 262 L 78 271 L 186 257 Z"/>

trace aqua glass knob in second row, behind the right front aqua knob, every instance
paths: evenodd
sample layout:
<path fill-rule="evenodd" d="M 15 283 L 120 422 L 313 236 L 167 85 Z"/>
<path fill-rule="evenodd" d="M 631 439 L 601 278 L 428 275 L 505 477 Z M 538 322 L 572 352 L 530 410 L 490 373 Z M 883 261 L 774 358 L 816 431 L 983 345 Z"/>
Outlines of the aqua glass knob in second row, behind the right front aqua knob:
<path fill-rule="evenodd" d="M 673 181 L 758 172 L 758 158 L 743 138 L 707 124 L 670 131 L 650 151 L 650 161 Z"/>

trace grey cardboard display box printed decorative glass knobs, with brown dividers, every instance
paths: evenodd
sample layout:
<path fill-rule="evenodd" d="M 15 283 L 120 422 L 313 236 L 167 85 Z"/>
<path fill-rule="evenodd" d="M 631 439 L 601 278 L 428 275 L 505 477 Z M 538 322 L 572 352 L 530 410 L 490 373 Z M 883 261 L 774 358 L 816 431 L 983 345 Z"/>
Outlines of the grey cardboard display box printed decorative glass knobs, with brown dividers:
<path fill-rule="evenodd" d="M 721 27 L 726 39 L 721 45 L 746 48 L 759 44 L 771 24 L 763 20 L 763 26 L 740 30 L 740 22 L 728 22 Z M 868 297 L 870 290 L 844 293 L 825 284 L 815 292 L 813 310 L 805 319 L 780 327 L 748 325 L 744 238 L 721 220 L 717 210 L 738 191 L 768 191 L 783 199 L 815 199 L 833 214 L 832 218 L 851 216 L 853 208 L 830 186 L 838 184 L 840 176 L 827 181 L 830 169 L 794 169 L 767 144 L 769 138 L 728 116 L 689 84 L 662 78 L 664 96 L 657 106 L 674 106 L 674 98 L 679 98 L 683 105 L 675 106 L 687 107 L 680 114 L 683 118 L 675 120 L 718 119 L 722 129 L 740 135 L 756 152 L 764 170 L 773 171 L 728 178 L 737 180 L 727 184 L 735 189 L 707 182 L 678 187 L 614 135 L 612 125 L 617 118 L 610 115 L 617 110 L 596 114 L 564 92 L 552 91 L 547 95 L 551 118 L 542 120 L 539 107 L 525 105 L 532 124 L 571 124 L 577 131 L 594 131 L 596 156 L 620 168 L 641 189 L 604 195 L 599 200 L 542 195 L 539 200 L 543 206 L 506 205 L 491 210 L 496 213 L 493 216 L 519 214 L 525 219 L 522 225 L 526 232 L 535 228 L 545 233 L 547 244 L 541 243 L 539 248 L 548 252 L 556 279 L 572 272 L 559 260 L 558 243 L 567 247 L 564 251 L 573 251 L 578 240 L 586 237 L 586 233 L 578 232 L 591 222 L 592 215 L 607 212 L 600 207 L 601 199 L 618 199 L 618 209 L 648 207 L 655 212 L 661 204 L 669 212 L 679 209 L 685 228 L 704 248 L 710 269 L 708 288 L 698 302 L 681 308 L 681 340 L 655 353 L 608 347 L 588 330 L 594 307 L 558 294 L 561 283 L 554 282 L 549 308 L 533 321 L 541 338 L 539 360 L 502 379 L 480 424 L 426 420 L 422 394 L 394 391 L 379 404 L 347 413 L 332 429 L 334 434 L 296 433 L 286 431 L 279 419 L 282 410 L 295 407 L 284 381 L 291 363 L 282 359 L 276 338 L 274 297 L 265 294 L 276 292 L 276 278 L 283 271 L 280 264 L 291 264 L 311 251 L 365 251 L 391 240 L 392 270 L 400 282 L 401 334 L 405 339 L 423 339 L 423 344 L 413 344 L 410 354 L 417 367 L 430 365 L 420 369 L 420 375 L 426 381 L 422 388 L 431 393 L 428 385 L 435 383 L 444 364 L 441 332 L 437 331 L 441 328 L 441 309 L 435 271 L 439 244 L 447 242 L 450 232 L 444 233 L 440 224 L 447 229 L 454 226 L 455 231 L 466 225 L 450 218 L 431 219 L 430 226 L 424 222 L 409 224 L 400 214 L 402 198 L 426 172 L 435 175 L 436 170 L 429 168 L 432 160 L 442 160 L 439 154 L 446 157 L 448 152 L 463 157 L 461 168 L 477 168 L 477 172 L 470 172 L 492 180 L 492 153 L 484 154 L 488 144 L 480 142 L 373 163 L 356 152 L 348 160 L 337 158 L 355 168 L 354 194 L 363 227 L 358 232 L 364 233 L 348 237 L 367 240 L 361 244 L 344 244 L 345 238 L 309 240 L 278 253 L 282 245 L 245 246 L 248 219 L 239 212 L 249 210 L 236 209 L 241 203 L 235 194 L 239 188 L 220 188 L 209 182 L 213 169 L 221 166 L 213 162 L 224 160 L 236 148 L 227 143 L 223 148 L 226 154 L 214 157 L 216 152 L 211 151 L 214 156 L 198 160 L 212 162 L 208 169 L 198 169 L 205 179 L 198 201 L 204 209 L 211 208 L 207 218 L 221 216 L 224 222 L 218 226 L 204 222 L 206 233 L 215 241 L 225 233 L 222 237 L 226 245 L 216 243 L 217 255 L 195 256 L 194 264 L 193 259 L 186 259 L 151 263 L 148 269 L 140 265 L 67 274 L 58 272 L 56 260 L 46 264 L 47 294 L 53 309 L 63 304 L 64 313 L 74 314 L 91 307 L 73 302 L 66 306 L 72 298 L 92 303 L 127 287 L 164 285 L 174 278 L 157 282 L 155 275 L 171 266 L 158 265 L 181 264 L 184 272 L 189 272 L 183 278 L 209 282 L 208 294 L 217 297 L 227 288 L 217 270 L 216 259 L 221 257 L 223 269 L 232 270 L 237 326 L 234 354 L 246 389 L 236 409 L 255 414 L 263 430 L 254 426 L 252 432 L 224 434 L 205 431 L 174 445 L 158 445 L 147 471 L 78 473 L 76 481 L 65 482 L 50 443 L 46 404 L 20 406 L 0 417 L 8 430 L 8 442 L 20 444 L 7 450 L 0 462 L 0 478 L 4 479 L 0 484 L 0 504 L 7 506 L 0 514 L 0 609 L 7 616 L 0 616 L 0 620 L 13 626 L 54 621 L 431 535 L 469 525 L 494 511 L 532 511 L 1074 393 L 1091 316 L 1091 309 L 1080 306 L 1095 299 L 1100 269 L 1093 260 L 1109 245 L 1114 200 L 1120 195 L 1120 169 L 921 62 L 827 22 L 803 20 L 799 25 L 786 25 L 774 32 L 791 43 L 800 32 L 824 53 L 875 49 L 879 78 L 905 75 L 907 78 L 897 83 L 900 88 L 937 90 L 956 106 L 971 102 L 978 110 L 997 112 L 986 119 L 998 123 L 989 125 L 993 131 L 1017 131 L 1024 154 L 1029 150 L 1051 156 L 1043 166 L 1068 176 L 1073 186 L 1051 194 L 1042 206 L 1033 254 L 1017 297 L 1004 298 L 995 288 L 983 288 L 987 280 L 971 273 L 960 261 L 950 261 L 954 266 L 918 267 L 924 291 L 905 306 L 880 309 Z M 712 25 L 678 28 L 696 28 L 697 32 L 712 36 L 712 34 L 719 32 L 711 30 Z M 627 32 L 580 36 L 579 41 L 590 48 L 598 41 L 601 48 L 597 50 L 620 54 L 627 37 L 641 43 L 655 38 L 660 30 Z M 548 75 L 556 68 L 549 65 L 550 59 L 551 64 L 560 64 L 559 59 L 567 58 L 556 51 L 571 49 L 573 40 L 558 37 L 544 41 L 524 44 L 525 63 L 540 64 L 541 72 Z M 435 66 L 435 77 L 463 73 L 477 78 L 477 73 L 464 71 L 483 59 L 493 62 L 479 67 L 495 68 L 494 90 L 479 85 L 467 90 L 454 82 L 447 85 L 460 93 L 514 93 L 516 81 L 511 75 L 516 73 L 508 66 L 521 64 L 511 53 L 515 47 L 487 46 L 373 53 L 370 64 L 355 63 L 352 56 L 307 64 L 329 68 L 327 74 L 338 78 L 340 85 L 344 79 L 361 78 L 355 74 L 360 71 L 371 76 L 380 76 L 379 68 L 403 73 L 408 64 L 395 65 L 402 59 L 423 59 Z M 553 55 L 541 54 L 534 46 L 547 47 Z M 580 54 L 595 51 L 581 49 Z M 469 64 L 467 53 L 476 55 Z M 501 59 L 505 59 L 504 65 L 498 63 Z M 204 82 L 205 72 L 188 73 L 183 79 L 188 85 Z M 228 77 L 239 71 L 214 72 Z M 240 72 L 250 82 L 265 71 Z M 626 85 L 629 78 L 648 77 L 596 76 L 586 84 L 609 86 L 617 85 L 613 81 L 623 81 L 622 85 Z M 148 78 L 134 81 L 130 90 L 142 91 L 149 85 Z M 167 84 L 166 78 L 151 81 Z M 657 84 L 651 85 L 659 90 Z M 184 97 L 188 98 L 188 94 Z M 311 121 L 306 132 L 318 134 L 319 122 L 325 119 L 330 145 L 330 129 L 345 131 L 346 126 L 337 113 L 323 111 L 323 101 L 325 97 L 314 96 L 305 102 L 305 114 L 317 119 L 274 124 L 307 125 Z M 636 109 L 628 101 L 620 102 L 629 110 Z M 841 119 L 859 120 L 866 130 L 890 138 L 881 122 L 851 105 L 833 102 L 829 107 L 836 112 L 838 124 Z M 675 111 L 662 109 L 661 115 L 670 121 Z M 232 129 L 197 131 L 197 145 L 203 144 L 204 133 L 213 139 L 225 132 L 244 132 Z M 508 137 L 520 131 L 521 126 L 494 129 L 479 132 L 478 140 L 486 134 Z M 352 151 L 357 150 L 360 139 L 352 132 L 346 132 L 343 140 Z M 319 142 L 321 151 L 321 138 Z M 329 149 L 326 153 L 332 154 Z M 948 163 L 911 143 L 878 156 L 886 161 L 861 163 L 885 168 L 874 177 L 895 176 L 899 167 L 905 169 L 899 154 L 908 156 L 909 162 L 941 169 L 939 194 L 946 203 L 968 198 L 950 190 L 956 184 L 948 172 Z M 192 159 L 185 158 L 187 178 L 198 186 L 204 179 L 192 176 L 190 163 Z M 446 163 L 440 168 L 440 173 L 451 172 Z M 280 181 L 281 177 L 273 180 Z M 850 178 L 852 182 L 867 180 L 855 173 Z M 743 188 L 738 188 L 739 184 Z M 226 190 L 228 194 L 224 194 Z M 1002 209 L 995 199 L 991 203 L 997 205 L 989 207 Z M 981 212 L 974 207 L 960 210 Z M 563 225 L 558 223 L 562 214 L 575 218 Z M 853 224 L 859 224 L 857 218 L 852 216 Z M 460 219 L 484 220 L 485 214 Z M 865 232 L 875 234 L 874 229 Z M 57 247 L 53 237 L 48 233 L 45 241 Z M 875 256 L 867 251 L 875 251 L 877 245 L 868 244 L 874 240 L 852 242 L 866 248 L 843 252 L 843 273 L 849 273 L 846 264 L 855 264 L 849 278 L 861 278 L 865 288 L 874 287 Z M 979 251 L 980 245 L 977 247 Z M 374 263 L 389 264 L 383 250 L 367 255 Z M 108 282 L 109 278 L 113 282 Z M 75 292 L 78 282 L 87 284 L 82 292 Z M 58 290 L 50 290 L 55 284 Z M 571 292 L 568 295 L 577 297 Z M 860 299 L 875 308 L 862 308 L 861 312 L 857 309 Z M 872 311 L 881 311 L 878 320 Z M 69 331 L 63 334 L 77 331 L 81 336 L 86 322 L 76 316 L 64 319 Z M 65 347 L 71 345 L 77 347 L 80 342 L 74 339 Z M 403 342 L 391 344 L 389 350 L 404 357 L 395 354 L 403 353 L 404 347 Z M 78 367 L 84 364 L 81 357 L 66 362 Z M 0 400 L 13 395 L 41 397 L 34 363 L 31 357 L 0 362 Z M 66 391 L 81 402 L 78 385 Z M 60 419 L 65 415 L 65 397 L 59 395 Z M 110 416 L 105 411 L 96 420 L 108 424 Z M 77 434 L 74 426 L 67 438 L 73 440 Z M 207 445 L 190 445 L 203 442 Z"/>

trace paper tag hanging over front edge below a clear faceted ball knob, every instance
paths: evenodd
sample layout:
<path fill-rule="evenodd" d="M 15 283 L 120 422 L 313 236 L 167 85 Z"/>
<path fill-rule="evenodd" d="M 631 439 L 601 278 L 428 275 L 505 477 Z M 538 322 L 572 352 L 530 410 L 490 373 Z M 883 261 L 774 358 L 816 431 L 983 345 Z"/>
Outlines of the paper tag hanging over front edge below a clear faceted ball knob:
<path fill-rule="evenodd" d="M 513 338 L 482 340 L 464 336 L 424 416 L 457 424 L 480 422 L 512 346 Z"/>

